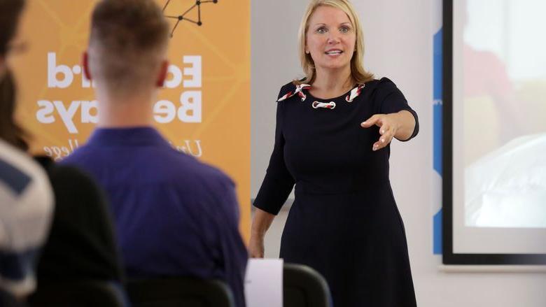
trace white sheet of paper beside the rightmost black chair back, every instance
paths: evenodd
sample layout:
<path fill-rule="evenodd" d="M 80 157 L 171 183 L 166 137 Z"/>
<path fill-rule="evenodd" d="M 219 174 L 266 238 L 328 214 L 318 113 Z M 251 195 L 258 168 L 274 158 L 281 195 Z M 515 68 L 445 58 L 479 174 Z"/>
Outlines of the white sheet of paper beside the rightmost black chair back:
<path fill-rule="evenodd" d="M 244 297 L 246 307 L 282 307 L 283 259 L 248 259 Z"/>

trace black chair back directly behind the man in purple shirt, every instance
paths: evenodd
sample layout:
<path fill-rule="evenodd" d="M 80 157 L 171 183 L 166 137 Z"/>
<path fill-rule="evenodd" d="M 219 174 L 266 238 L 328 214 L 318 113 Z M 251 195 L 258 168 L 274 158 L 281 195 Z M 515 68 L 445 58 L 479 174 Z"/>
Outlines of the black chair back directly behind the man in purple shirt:
<path fill-rule="evenodd" d="M 130 280 L 126 288 L 132 307 L 235 307 L 230 287 L 221 280 Z"/>

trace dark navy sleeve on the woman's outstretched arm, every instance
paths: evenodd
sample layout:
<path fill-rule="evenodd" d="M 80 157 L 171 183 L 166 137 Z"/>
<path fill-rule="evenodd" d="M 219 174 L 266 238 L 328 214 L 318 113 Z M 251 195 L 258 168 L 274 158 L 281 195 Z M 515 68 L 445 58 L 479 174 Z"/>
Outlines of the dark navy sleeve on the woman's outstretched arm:
<path fill-rule="evenodd" d="M 409 141 L 414 138 L 417 133 L 419 133 L 419 117 L 417 117 L 417 113 L 415 112 L 415 110 L 413 110 L 412 107 L 407 104 L 407 100 L 405 99 L 404 94 L 402 94 L 402 92 L 398 90 L 398 87 L 396 87 L 396 85 L 391 80 L 383 78 L 381 79 L 381 81 L 385 83 L 385 86 L 379 92 L 379 113 L 398 113 L 401 110 L 407 110 L 409 113 L 412 113 L 413 117 L 415 118 L 415 127 L 413 129 L 412 136 L 409 136 L 409 138 L 405 140 L 400 140 L 402 142 Z"/>

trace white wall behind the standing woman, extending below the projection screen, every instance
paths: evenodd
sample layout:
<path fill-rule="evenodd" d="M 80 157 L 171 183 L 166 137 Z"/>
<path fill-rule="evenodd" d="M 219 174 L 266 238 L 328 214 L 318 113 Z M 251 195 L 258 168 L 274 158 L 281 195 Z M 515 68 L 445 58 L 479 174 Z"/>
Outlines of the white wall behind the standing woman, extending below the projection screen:
<path fill-rule="evenodd" d="M 419 113 L 421 131 L 395 142 L 391 183 L 405 222 L 416 296 L 421 307 L 545 307 L 545 273 L 443 273 L 432 253 L 432 216 L 440 186 L 433 178 L 433 32 L 441 0 L 353 0 L 365 32 L 365 64 L 391 78 Z M 252 0 L 251 197 L 273 146 L 276 95 L 300 76 L 297 28 L 307 1 Z"/>

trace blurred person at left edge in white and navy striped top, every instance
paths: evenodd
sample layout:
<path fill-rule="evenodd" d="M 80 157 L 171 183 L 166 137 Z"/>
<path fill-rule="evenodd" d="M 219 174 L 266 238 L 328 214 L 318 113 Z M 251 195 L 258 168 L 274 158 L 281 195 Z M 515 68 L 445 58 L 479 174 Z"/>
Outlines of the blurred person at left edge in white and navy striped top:
<path fill-rule="evenodd" d="M 0 306 L 20 306 L 34 290 L 34 263 L 53 201 L 45 173 L 20 150 L 25 143 L 13 121 L 7 59 L 23 6 L 22 0 L 0 0 Z"/>

